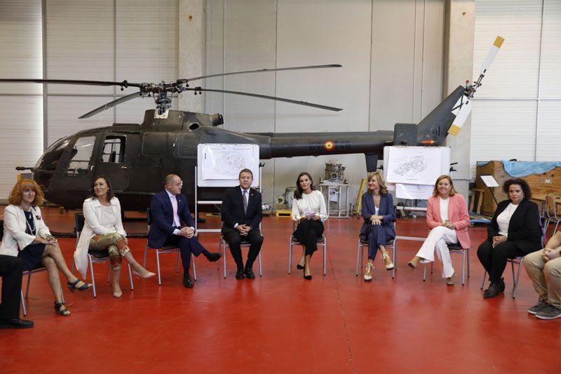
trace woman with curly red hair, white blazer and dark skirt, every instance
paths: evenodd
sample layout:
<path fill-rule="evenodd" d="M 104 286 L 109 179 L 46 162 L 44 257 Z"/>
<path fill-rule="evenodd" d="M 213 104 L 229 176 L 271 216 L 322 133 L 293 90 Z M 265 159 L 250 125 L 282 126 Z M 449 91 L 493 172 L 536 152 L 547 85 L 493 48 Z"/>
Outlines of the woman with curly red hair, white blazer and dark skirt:
<path fill-rule="evenodd" d="M 62 257 L 57 239 L 50 234 L 39 205 L 43 203 L 43 191 L 34 180 L 22 179 L 15 184 L 8 198 L 10 205 L 4 210 L 4 239 L 0 255 L 21 258 L 24 270 L 45 266 L 48 283 L 55 296 L 55 312 L 69 316 L 70 311 L 62 302 L 62 287 L 58 271 L 65 275 L 68 288 L 74 292 L 87 290 L 91 284 L 80 281 L 68 269 Z"/>

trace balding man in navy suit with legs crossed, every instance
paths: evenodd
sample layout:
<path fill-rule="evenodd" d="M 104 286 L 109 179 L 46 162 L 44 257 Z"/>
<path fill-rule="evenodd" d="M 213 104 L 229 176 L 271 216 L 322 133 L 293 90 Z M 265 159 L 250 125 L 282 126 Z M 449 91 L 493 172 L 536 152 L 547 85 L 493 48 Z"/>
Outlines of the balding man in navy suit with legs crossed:
<path fill-rule="evenodd" d="M 189 213 L 187 198 L 181 193 L 183 182 L 175 174 L 164 180 L 165 189 L 152 197 L 150 203 L 152 225 L 148 233 L 148 243 L 152 248 L 173 245 L 180 248 L 183 262 L 183 286 L 193 287 L 189 275 L 191 253 L 198 257 L 201 253 L 210 262 L 219 260 L 220 253 L 210 253 L 194 237 L 195 222 Z M 182 222 L 186 226 L 182 225 Z"/>

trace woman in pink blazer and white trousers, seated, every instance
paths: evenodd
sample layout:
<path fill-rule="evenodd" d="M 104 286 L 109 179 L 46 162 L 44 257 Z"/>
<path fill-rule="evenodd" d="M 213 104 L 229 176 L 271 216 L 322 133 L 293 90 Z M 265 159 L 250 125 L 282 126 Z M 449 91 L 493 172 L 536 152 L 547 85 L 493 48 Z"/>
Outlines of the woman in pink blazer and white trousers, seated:
<path fill-rule="evenodd" d="M 436 252 L 442 261 L 442 277 L 446 278 L 447 285 L 452 286 L 454 267 L 448 244 L 459 243 L 461 248 L 469 248 L 469 223 L 468 206 L 464 196 L 456 192 L 450 176 L 440 175 L 426 208 L 426 224 L 431 232 L 417 255 L 407 265 L 414 269 L 419 262 L 432 262 Z"/>

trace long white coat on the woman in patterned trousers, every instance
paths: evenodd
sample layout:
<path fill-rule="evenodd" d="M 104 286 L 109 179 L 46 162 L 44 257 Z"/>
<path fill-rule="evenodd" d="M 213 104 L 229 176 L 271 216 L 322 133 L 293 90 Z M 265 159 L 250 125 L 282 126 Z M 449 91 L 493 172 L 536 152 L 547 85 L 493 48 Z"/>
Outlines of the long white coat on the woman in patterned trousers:
<path fill-rule="evenodd" d="M 123 229 L 123 221 L 121 220 L 121 203 L 119 199 L 114 197 L 111 199 L 111 212 L 116 218 L 115 228 L 118 234 L 127 236 Z M 76 269 L 82 276 L 86 277 L 88 271 L 88 249 L 90 249 L 90 240 L 95 235 L 108 234 L 110 231 L 107 227 L 100 225 L 101 203 L 97 199 L 86 199 L 83 202 L 83 218 L 84 225 L 80 234 L 76 251 L 74 251 L 74 264 Z"/>

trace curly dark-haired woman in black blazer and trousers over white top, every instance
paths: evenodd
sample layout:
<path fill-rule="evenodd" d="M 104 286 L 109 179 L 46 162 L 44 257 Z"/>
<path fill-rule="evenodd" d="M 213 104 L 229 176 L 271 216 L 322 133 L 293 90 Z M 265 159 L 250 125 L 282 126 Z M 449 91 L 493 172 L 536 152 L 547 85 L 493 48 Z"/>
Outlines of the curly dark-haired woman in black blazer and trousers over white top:
<path fill-rule="evenodd" d="M 524 256 L 542 248 L 539 209 L 530 201 L 532 192 L 525 180 L 509 179 L 503 191 L 508 199 L 496 207 L 487 225 L 487 240 L 478 248 L 481 265 L 489 273 L 489 288 L 483 298 L 495 298 L 504 291 L 502 278 L 508 258 Z"/>

